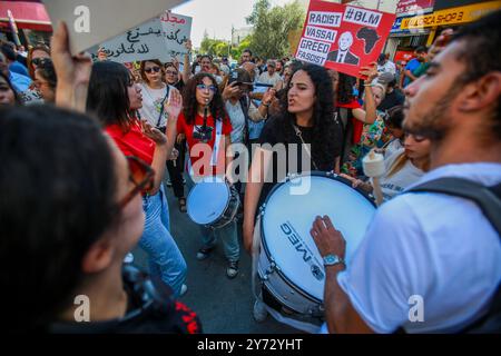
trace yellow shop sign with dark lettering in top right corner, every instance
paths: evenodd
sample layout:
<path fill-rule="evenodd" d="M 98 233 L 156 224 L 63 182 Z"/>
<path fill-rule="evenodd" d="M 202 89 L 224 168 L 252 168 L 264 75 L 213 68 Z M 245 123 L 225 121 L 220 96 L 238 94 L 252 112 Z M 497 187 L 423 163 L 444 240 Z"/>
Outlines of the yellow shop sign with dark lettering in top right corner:
<path fill-rule="evenodd" d="M 468 7 L 445 9 L 430 14 L 403 19 L 400 28 L 406 30 L 472 22 L 500 8 L 501 1 L 489 1 Z"/>

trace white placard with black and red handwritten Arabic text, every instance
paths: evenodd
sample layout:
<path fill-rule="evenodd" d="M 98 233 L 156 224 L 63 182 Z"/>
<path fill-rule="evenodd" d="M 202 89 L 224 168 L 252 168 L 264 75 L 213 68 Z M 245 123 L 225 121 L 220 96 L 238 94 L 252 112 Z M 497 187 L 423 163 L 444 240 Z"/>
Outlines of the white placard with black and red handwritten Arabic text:
<path fill-rule="evenodd" d="M 185 43 L 191 32 L 191 18 L 166 12 L 126 33 L 102 43 L 100 47 L 108 59 L 116 62 L 132 62 L 147 59 L 171 61 L 186 53 Z M 97 59 L 98 47 L 92 48 L 92 58 Z M 183 59 L 179 59 L 183 61 Z"/>

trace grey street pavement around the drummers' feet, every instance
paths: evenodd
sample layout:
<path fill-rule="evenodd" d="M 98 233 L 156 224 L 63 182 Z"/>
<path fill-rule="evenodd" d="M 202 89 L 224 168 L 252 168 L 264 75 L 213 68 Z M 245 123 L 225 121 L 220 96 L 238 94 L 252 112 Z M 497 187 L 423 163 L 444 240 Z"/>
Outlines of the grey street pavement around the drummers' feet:
<path fill-rule="evenodd" d="M 185 187 L 186 197 L 191 186 L 188 179 Z M 187 214 L 179 211 L 171 189 L 166 187 L 166 192 L 170 210 L 170 233 L 188 265 L 188 293 L 180 300 L 198 314 L 204 333 L 302 334 L 299 330 L 277 323 L 271 316 L 264 323 L 254 320 L 254 297 L 250 286 L 252 259 L 242 247 L 242 236 L 239 236 L 240 271 L 235 279 L 228 279 L 220 243 L 208 259 L 198 261 L 196 254 L 200 248 L 199 229 Z M 134 255 L 135 264 L 147 268 L 146 254 L 140 248 L 136 248 Z"/>

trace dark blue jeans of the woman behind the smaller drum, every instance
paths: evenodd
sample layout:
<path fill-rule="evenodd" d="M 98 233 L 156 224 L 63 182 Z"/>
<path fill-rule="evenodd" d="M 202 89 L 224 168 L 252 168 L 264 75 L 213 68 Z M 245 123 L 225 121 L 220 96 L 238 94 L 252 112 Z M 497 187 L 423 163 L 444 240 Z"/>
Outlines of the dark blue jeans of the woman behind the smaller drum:
<path fill-rule="evenodd" d="M 220 239 L 226 258 L 229 261 L 238 261 L 240 259 L 236 221 L 232 221 L 225 227 L 216 230 L 200 226 L 200 231 L 202 243 L 205 247 L 213 247 L 217 244 L 217 239 Z"/>

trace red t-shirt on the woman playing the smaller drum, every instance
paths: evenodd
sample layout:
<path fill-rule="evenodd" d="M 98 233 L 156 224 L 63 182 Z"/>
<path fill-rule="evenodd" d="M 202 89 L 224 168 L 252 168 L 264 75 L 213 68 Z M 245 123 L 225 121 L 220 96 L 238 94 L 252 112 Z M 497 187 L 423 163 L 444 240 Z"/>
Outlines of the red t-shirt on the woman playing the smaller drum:
<path fill-rule="evenodd" d="M 216 122 L 214 122 L 212 115 L 207 117 L 207 138 L 209 140 L 204 142 L 200 138 L 194 137 L 195 128 L 199 132 L 199 128 L 204 125 L 204 117 L 197 115 L 195 125 L 188 125 L 186 118 L 181 112 L 177 119 L 177 132 L 186 135 L 188 142 L 189 158 L 191 160 L 193 172 L 195 176 L 204 176 L 204 167 L 210 167 L 213 161 L 214 146 L 216 142 Z M 226 147 L 225 138 L 232 134 L 232 122 L 226 117 L 222 125 L 222 136 L 219 139 L 219 149 L 217 151 L 217 165 L 213 167 L 213 176 L 224 175 L 226 171 Z"/>

